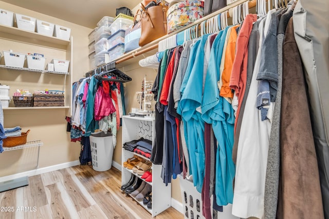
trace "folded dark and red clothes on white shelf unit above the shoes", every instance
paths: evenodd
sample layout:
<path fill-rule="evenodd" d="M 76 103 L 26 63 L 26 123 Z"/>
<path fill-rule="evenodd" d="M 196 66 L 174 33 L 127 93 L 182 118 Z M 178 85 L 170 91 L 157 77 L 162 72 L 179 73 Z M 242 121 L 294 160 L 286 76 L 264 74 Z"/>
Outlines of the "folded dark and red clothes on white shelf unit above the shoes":
<path fill-rule="evenodd" d="M 141 154 L 147 158 L 151 157 L 152 141 L 144 139 L 143 137 L 139 138 L 139 140 L 133 140 L 131 142 L 126 142 L 123 144 L 122 147 L 125 150 Z"/>

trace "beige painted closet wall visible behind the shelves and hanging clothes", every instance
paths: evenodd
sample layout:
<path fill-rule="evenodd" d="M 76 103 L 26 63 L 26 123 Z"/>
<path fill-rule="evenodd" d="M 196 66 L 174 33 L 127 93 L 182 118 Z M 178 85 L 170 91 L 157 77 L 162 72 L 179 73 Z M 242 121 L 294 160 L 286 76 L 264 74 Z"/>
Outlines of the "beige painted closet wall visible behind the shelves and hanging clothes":
<path fill-rule="evenodd" d="M 59 24 L 71 28 L 73 36 L 73 66 L 72 82 L 78 81 L 89 70 L 88 63 L 88 34 L 92 29 L 72 24 L 61 19 L 36 13 L 21 7 L 17 7 L 0 1 L 0 7 L 5 10 L 42 19 L 54 24 Z M 95 24 L 96 25 L 96 24 Z M 0 38 L 0 50 L 9 50 L 28 53 L 35 50 L 34 45 L 8 42 Z M 65 51 L 49 49 L 46 47 L 37 47 L 38 51 L 48 54 L 49 57 L 65 57 Z M 47 59 L 47 62 L 50 61 Z M 4 64 L 4 61 L 0 64 Z M 132 77 L 132 81 L 125 84 L 125 103 L 126 113 L 130 112 L 132 107 L 138 107 L 136 92 L 141 90 L 141 81 L 144 75 L 148 80 L 154 80 L 156 76 L 155 69 L 141 68 L 138 66 L 138 60 L 134 64 L 120 66 L 127 75 Z M 33 72 L 7 71 L 0 69 L 0 83 L 11 86 L 10 95 L 17 88 L 30 89 L 58 89 L 63 83 L 62 75 L 40 75 Z M 49 84 L 50 83 L 50 84 Z M 46 85 L 44 85 L 46 84 Z M 11 103 L 13 106 L 13 103 Z M 65 116 L 69 114 L 68 109 L 43 109 L 43 110 L 5 110 L 5 127 L 21 126 L 23 131 L 30 129 L 28 141 L 41 140 L 44 146 L 40 149 L 40 167 L 47 167 L 66 162 L 79 160 L 80 143 L 71 143 L 69 132 L 66 132 Z M 113 160 L 121 164 L 121 129 L 117 133 L 117 146 L 114 151 Z M 0 177 L 19 172 L 31 170 L 36 165 L 37 148 L 24 150 L 6 151 L 0 154 Z M 181 202 L 179 181 L 172 181 L 172 197 Z"/>

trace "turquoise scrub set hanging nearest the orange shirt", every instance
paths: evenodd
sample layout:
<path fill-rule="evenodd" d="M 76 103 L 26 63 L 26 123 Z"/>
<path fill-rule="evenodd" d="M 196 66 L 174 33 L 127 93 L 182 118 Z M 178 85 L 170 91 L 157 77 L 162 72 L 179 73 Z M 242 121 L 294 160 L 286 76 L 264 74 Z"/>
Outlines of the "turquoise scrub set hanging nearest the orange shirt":
<path fill-rule="evenodd" d="M 233 177 L 235 167 L 231 160 L 233 145 L 234 115 L 229 102 L 219 95 L 217 82 L 220 79 L 220 65 L 227 32 L 226 27 L 216 36 L 208 64 L 206 85 L 202 102 L 202 118 L 212 124 L 217 140 L 215 196 L 217 205 L 227 205 L 233 199 Z M 206 95 L 207 94 L 207 95 Z"/>

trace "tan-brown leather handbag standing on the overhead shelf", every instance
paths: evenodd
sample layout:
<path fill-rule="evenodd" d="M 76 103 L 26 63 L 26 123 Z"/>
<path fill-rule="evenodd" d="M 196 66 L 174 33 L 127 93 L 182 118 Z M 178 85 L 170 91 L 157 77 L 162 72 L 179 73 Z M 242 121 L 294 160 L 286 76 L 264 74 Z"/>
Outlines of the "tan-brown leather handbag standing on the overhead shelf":
<path fill-rule="evenodd" d="M 154 6 L 141 7 L 141 36 L 139 46 L 144 46 L 161 36 L 167 34 L 167 10 L 168 4 L 161 1 Z"/>

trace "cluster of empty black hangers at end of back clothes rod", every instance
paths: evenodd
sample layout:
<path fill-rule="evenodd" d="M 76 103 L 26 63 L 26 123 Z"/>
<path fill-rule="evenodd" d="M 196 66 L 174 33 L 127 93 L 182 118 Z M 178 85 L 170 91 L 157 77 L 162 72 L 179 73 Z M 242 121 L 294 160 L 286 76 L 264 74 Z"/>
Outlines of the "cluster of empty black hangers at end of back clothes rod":
<path fill-rule="evenodd" d="M 101 68 L 101 67 L 100 67 Z M 103 72 L 96 74 L 95 78 L 101 81 L 111 82 L 130 82 L 132 78 L 115 67 L 115 62 L 109 63 L 102 67 Z M 110 77 L 104 77 L 110 76 Z M 116 78 L 113 78 L 116 77 Z"/>

